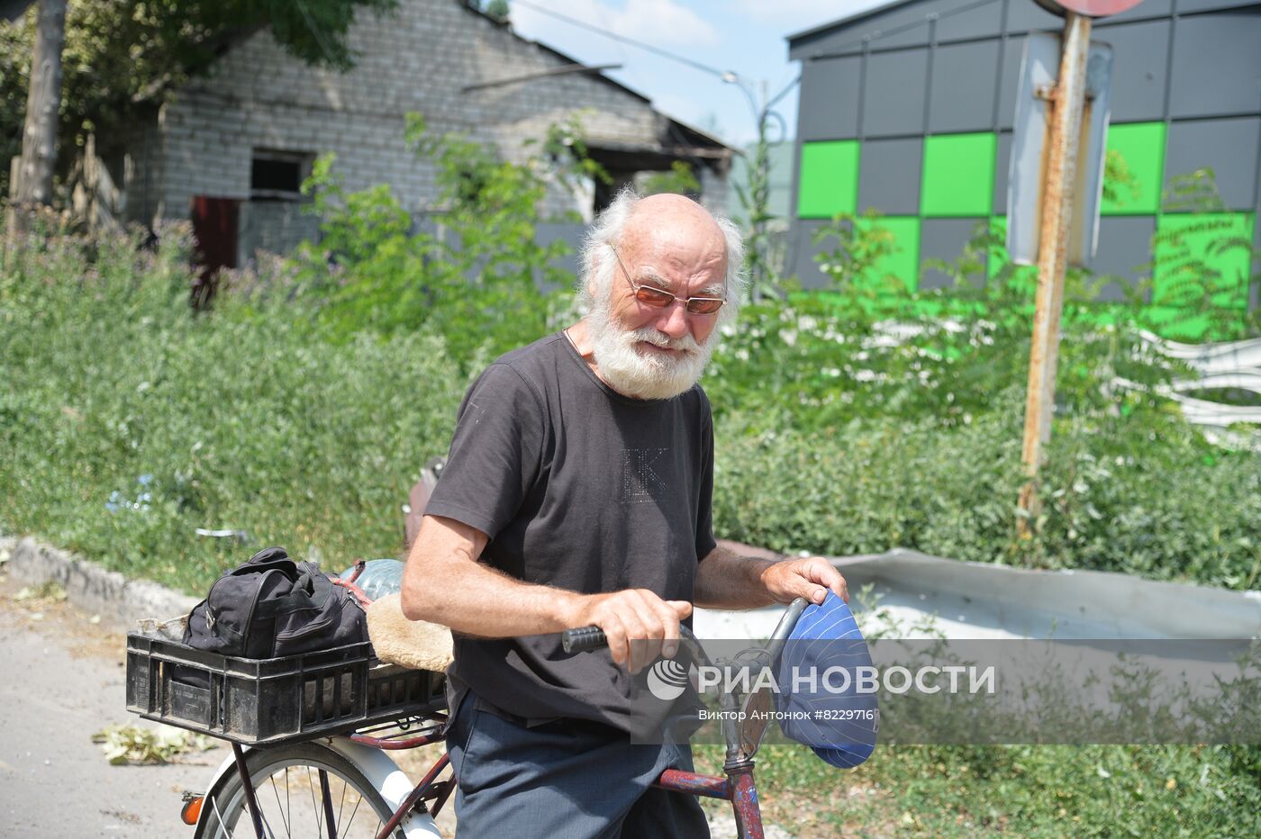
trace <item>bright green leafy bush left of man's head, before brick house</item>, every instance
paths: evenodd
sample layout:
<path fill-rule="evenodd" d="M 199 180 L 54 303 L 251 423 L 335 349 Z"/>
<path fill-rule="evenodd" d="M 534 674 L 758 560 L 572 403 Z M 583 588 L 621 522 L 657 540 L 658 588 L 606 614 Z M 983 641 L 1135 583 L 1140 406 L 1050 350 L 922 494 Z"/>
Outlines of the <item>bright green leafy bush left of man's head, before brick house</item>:
<path fill-rule="evenodd" d="M 435 168 L 439 195 L 425 223 L 414 228 L 386 184 L 346 190 L 332 156 L 322 157 L 303 185 L 322 237 L 291 261 L 296 295 L 333 340 L 431 329 L 470 369 L 478 350 L 493 358 L 564 320 L 569 297 L 555 292 L 574 282 L 557 266 L 567 247 L 538 243 L 537 207 L 550 180 L 588 171 L 575 156 L 581 137 L 554 127 L 518 164 L 458 134 L 433 134 L 417 113 L 407 123 L 409 145 Z"/>

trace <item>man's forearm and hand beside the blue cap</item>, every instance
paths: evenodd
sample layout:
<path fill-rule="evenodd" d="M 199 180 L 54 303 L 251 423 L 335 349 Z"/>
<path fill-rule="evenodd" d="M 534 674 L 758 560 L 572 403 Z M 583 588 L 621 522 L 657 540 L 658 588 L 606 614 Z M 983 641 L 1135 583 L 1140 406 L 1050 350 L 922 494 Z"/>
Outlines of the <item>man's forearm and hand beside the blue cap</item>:
<path fill-rule="evenodd" d="M 705 608 L 757 608 L 805 597 L 820 603 L 831 590 L 849 602 L 845 578 L 827 559 L 755 559 L 714 548 L 696 568 L 696 605 Z"/>

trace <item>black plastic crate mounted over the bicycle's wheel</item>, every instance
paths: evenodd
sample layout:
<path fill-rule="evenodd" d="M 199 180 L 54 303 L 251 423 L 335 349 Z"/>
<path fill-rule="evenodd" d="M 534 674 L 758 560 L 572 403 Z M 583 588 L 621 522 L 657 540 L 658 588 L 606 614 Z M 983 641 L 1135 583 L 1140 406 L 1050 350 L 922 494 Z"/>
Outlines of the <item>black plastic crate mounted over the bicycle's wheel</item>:
<path fill-rule="evenodd" d="M 380 665 L 372 645 L 238 659 L 127 635 L 127 711 L 238 743 L 310 739 L 443 708 L 439 673 Z"/>

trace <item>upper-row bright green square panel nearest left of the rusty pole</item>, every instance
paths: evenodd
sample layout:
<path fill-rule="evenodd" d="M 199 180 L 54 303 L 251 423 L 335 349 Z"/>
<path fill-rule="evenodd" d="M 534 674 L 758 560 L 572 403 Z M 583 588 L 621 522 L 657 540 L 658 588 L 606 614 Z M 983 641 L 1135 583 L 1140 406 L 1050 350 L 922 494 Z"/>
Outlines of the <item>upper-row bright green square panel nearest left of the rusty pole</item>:
<path fill-rule="evenodd" d="M 994 209 L 992 134 L 924 137 L 919 213 L 927 217 L 989 215 Z"/>

